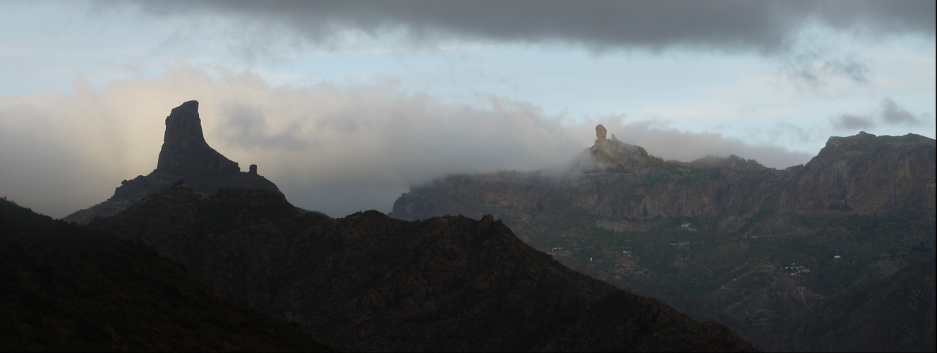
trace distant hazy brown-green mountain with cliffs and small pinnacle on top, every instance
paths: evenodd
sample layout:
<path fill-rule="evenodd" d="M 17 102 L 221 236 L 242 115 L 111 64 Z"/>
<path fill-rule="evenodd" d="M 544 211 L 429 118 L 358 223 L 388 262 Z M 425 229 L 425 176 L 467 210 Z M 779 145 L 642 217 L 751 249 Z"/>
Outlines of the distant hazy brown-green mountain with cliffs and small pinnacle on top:
<path fill-rule="evenodd" d="M 794 347 L 777 325 L 935 255 L 934 140 L 830 138 L 808 164 L 777 170 L 735 155 L 665 161 L 600 127 L 573 177 L 449 176 L 390 215 L 492 213 L 573 270 L 769 347 Z"/>

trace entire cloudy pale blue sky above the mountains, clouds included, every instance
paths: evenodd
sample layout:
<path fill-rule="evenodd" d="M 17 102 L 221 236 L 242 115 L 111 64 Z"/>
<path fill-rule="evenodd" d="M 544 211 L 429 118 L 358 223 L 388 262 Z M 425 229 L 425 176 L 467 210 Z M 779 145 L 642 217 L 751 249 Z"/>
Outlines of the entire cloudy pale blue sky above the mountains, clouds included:
<path fill-rule="evenodd" d="M 561 168 L 602 124 L 665 159 L 935 136 L 933 1 L 2 1 L 0 197 L 52 217 L 156 168 L 164 120 L 291 203 L 391 211 Z"/>

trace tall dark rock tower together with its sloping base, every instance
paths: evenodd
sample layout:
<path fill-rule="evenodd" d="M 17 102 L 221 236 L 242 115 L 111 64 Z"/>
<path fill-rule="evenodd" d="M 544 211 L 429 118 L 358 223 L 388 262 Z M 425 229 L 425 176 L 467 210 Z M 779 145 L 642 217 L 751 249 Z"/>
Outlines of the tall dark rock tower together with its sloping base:
<path fill-rule="evenodd" d="M 166 132 L 156 169 L 146 176 L 123 181 L 110 199 L 68 214 L 63 220 L 85 224 L 98 215 L 120 213 L 146 195 L 167 189 L 179 180 L 185 180 L 186 185 L 204 193 L 230 187 L 279 192 L 275 184 L 257 174 L 256 165 L 243 172 L 237 162 L 208 145 L 201 131 L 199 102 L 190 100 L 172 109 L 166 118 Z"/>

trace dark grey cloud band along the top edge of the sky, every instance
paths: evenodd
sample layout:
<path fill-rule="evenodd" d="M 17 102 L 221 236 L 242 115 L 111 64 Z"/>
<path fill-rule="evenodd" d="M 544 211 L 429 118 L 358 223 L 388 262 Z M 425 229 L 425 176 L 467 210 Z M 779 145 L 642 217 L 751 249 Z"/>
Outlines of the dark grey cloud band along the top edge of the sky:
<path fill-rule="evenodd" d="M 316 43 L 342 31 L 403 30 L 417 43 L 456 37 L 569 42 L 596 51 L 671 47 L 775 52 L 805 26 L 872 37 L 934 35 L 933 1 L 141 1 L 157 16 L 227 15 Z M 100 3 L 112 7 L 112 3 Z M 836 66 L 836 64 L 831 64 Z M 848 72 L 849 63 L 841 69 Z M 861 71 L 861 70 L 860 70 Z M 859 76 L 861 77 L 861 76 Z"/>

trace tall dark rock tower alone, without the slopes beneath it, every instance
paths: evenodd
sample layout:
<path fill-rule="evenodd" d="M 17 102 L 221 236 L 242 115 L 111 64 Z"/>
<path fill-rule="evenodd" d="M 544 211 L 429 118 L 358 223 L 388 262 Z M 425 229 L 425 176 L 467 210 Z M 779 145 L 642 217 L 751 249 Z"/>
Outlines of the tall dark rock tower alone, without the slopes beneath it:
<path fill-rule="evenodd" d="M 166 133 L 156 170 L 176 172 L 188 178 L 211 178 L 241 171 L 241 168 L 205 142 L 199 102 L 190 100 L 172 109 L 166 117 Z"/>

